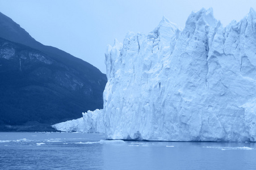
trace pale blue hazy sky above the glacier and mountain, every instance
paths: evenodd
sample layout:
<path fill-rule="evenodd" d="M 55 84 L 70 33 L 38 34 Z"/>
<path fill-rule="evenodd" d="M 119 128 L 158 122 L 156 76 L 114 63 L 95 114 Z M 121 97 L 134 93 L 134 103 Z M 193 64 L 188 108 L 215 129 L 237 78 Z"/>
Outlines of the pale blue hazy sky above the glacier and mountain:
<path fill-rule="evenodd" d="M 0 0 L 0 12 L 44 45 L 51 45 L 106 73 L 104 53 L 128 31 L 148 33 L 162 16 L 184 28 L 188 15 L 213 8 L 224 26 L 256 10 L 255 0 Z"/>

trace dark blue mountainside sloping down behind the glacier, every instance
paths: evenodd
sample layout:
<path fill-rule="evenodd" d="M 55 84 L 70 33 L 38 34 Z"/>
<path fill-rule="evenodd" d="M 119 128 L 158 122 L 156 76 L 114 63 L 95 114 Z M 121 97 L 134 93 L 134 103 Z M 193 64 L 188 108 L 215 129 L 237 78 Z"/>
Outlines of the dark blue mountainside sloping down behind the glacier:
<path fill-rule="evenodd" d="M 103 108 L 106 75 L 45 46 L 0 13 L 0 131 L 49 131 L 50 125 Z"/>

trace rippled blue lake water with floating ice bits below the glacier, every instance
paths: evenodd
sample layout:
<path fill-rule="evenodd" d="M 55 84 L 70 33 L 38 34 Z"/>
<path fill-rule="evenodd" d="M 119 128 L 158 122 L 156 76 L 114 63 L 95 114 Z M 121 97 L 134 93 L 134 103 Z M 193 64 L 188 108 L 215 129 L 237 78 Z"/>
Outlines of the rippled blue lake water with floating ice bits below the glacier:
<path fill-rule="evenodd" d="M 102 139 L 103 134 L 0 133 L 0 169 L 256 169 L 255 143 Z"/>

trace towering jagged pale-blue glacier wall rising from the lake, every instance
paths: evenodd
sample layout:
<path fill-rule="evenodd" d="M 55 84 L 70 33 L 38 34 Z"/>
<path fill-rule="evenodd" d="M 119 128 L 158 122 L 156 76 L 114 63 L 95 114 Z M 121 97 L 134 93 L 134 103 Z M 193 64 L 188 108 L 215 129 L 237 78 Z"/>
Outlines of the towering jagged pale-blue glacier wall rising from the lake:
<path fill-rule="evenodd" d="M 106 52 L 104 108 L 53 125 L 107 139 L 256 141 L 256 12 L 225 28 L 212 9 L 163 18 Z"/>

